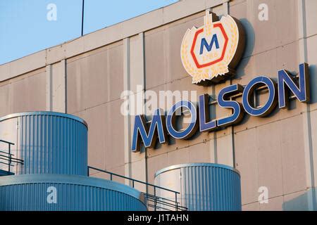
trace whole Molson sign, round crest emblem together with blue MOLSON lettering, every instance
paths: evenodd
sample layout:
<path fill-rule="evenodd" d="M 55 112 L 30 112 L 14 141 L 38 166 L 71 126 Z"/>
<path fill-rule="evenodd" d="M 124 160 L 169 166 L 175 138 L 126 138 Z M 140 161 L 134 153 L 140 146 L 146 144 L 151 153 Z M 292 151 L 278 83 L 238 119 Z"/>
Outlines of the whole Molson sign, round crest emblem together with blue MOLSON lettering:
<path fill-rule="evenodd" d="M 235 75 L 235 67 L 244 49 L 244 30 L 240 22 L 230 15 L 217 20 L 215 14 L 207 13 L 203 27 L 192 27 L 182 39 L 181 59 L 185 70 L 192 76 L 193 84 L 215 84 Z M 268 65 L 270 66 L 270 65 Z M 256 105 L 254 94 L 259 88 L 268 90 L 266 103 Z M 132 151 L 142 145 L 154 148 L 156 142 L 167 143 L 168 136 L 174 139 L 189 139 L 197 131 L 210 132 L 241 122 L 245 113 L 254 117 L 268 116 L 278 105 L 287 108 L 290 95 L 298 101 L 309 102 L 309 65 L 299 65 L 297 76 L 287 70 L 277 72 L 277 79 L 266 76 L 254 77 L 249 84 L 232 84 L 219 91 L 216 101 L 219 107 L 231 110 L 231 114 L 210 118 L 209 94 L 199 96 L 198 103 L 182 100 L 168 112 L 154 110 L 151 122 L 144 115 L 135 116 L 132 136 Z M 242 96 L 242 102 L 235 99 Z M 190 113 L 187 127 L 179 129 L 180 110 Z"/>

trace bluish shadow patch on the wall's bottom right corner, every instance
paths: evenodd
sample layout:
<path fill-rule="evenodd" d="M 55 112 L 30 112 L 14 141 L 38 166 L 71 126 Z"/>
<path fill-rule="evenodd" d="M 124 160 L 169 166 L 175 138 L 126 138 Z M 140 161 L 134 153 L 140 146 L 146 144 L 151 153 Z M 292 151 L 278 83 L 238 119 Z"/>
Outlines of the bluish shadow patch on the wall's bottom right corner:
<path fill-rule="evenodd" d="M 292 200 L 285 201 L 282 204 L 282 209 L 284 211 L 317 210 L 316 202 L 316 188 L 311 188 L 303 195 L 299 195 Z"/>

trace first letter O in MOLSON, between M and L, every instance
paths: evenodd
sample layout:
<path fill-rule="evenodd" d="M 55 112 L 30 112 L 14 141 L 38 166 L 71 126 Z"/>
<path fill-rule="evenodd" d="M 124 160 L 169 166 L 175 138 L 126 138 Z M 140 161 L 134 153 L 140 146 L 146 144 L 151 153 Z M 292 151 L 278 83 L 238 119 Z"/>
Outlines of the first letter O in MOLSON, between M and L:
<path fill-rule="evenodd" d="M 187 126 L 186 129 L 183 131 L 178 131 L 175 129 L 175 124 L 176 124 L 176 117 L 177 115 L 175 114 L 176 110 L 178 108 L 187 108 L 190 112 L 191 116 L 191 121 L 189 125 Z M 196 106 L 190 102 L 190 101 L 179 101 L 175 105 L 170 108 L 168 115 L 166 117 L 166 128 L 168 130 L 168 133 L 170 136 L 173 136 L 175 139 L 189 139 L 196 131 L 197 131 L 197 108 Z"/>

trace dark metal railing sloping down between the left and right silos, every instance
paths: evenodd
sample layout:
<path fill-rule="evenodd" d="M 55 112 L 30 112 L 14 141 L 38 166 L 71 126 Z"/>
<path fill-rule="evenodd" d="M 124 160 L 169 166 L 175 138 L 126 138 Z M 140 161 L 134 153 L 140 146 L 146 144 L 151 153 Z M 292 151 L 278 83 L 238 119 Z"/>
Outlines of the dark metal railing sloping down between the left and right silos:
<path fill-rule="evenodd" d="M 168 188 L 163 188 L 160 186 L 156 186 L 154 184 L 149 184 L 149 183 L 144 182 L 144 181 L 132 179 L 128 176 L 122 176 L 120 174 L 115 174 L 113 172 L 108 172 L 104 169 L 98 169 L 96 167 L 90 167 L 90 166 L 88 166 L 88 169 L 87 169 L 87 176 L 89 176 L 89 169 L 94 169 L 94 170 L 97 170 L 99 172 L 104 172 L 104 173 L 108 174 L 110 176 L 111 181 L 113 180 L 113 176 L 117 176 L 117 177 L 120 177 L 122 179 L 127 179 L 130 181 L 130 186 L 132 186 L 132 188 L 135 188 L 135 183 L 145 185 L 146 189 L 147 189 L 147 193 L 143 193 L 143 194 L 147 198 L 147 206 L 153 208 L 154 211 L 156 211 L 156 210 L 167 210 L 167 211 L 185 211 L 185 210 L 187 210 L 186 207 L 183 207 L 180 205 L 180 203 L 178 203 L 178 195 L 180 194 L 178 191 L 173 191 L 173 190 L 170 190 Z M 148 192 L 149 187 L 154 189 L 153 195 Z M 157 196 L 156 191 L 158 189 L 173 193 L 173 195 L 175 196 L 175 199 L 170 200 L 168 198 L 162 198 L 162 197 Z"/>

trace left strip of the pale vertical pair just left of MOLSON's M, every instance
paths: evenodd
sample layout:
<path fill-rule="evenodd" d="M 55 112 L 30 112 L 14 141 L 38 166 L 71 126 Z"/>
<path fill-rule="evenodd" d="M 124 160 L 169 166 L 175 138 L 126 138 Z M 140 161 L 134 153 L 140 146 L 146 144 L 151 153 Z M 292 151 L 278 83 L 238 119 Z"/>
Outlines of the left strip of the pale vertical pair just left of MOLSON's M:
<path fill-rule="evenodd" d="M 123 89 L 130 91 L 130 38 L 123 39 Z M 130 96 L 127 96 L 130 105 Z M 131 115 L 124 116 L 124 142 L 125 142 L 125 176 L 132 177 L 131 165 Z M 128 181 L 131 185 L 131 181 Z"/>

